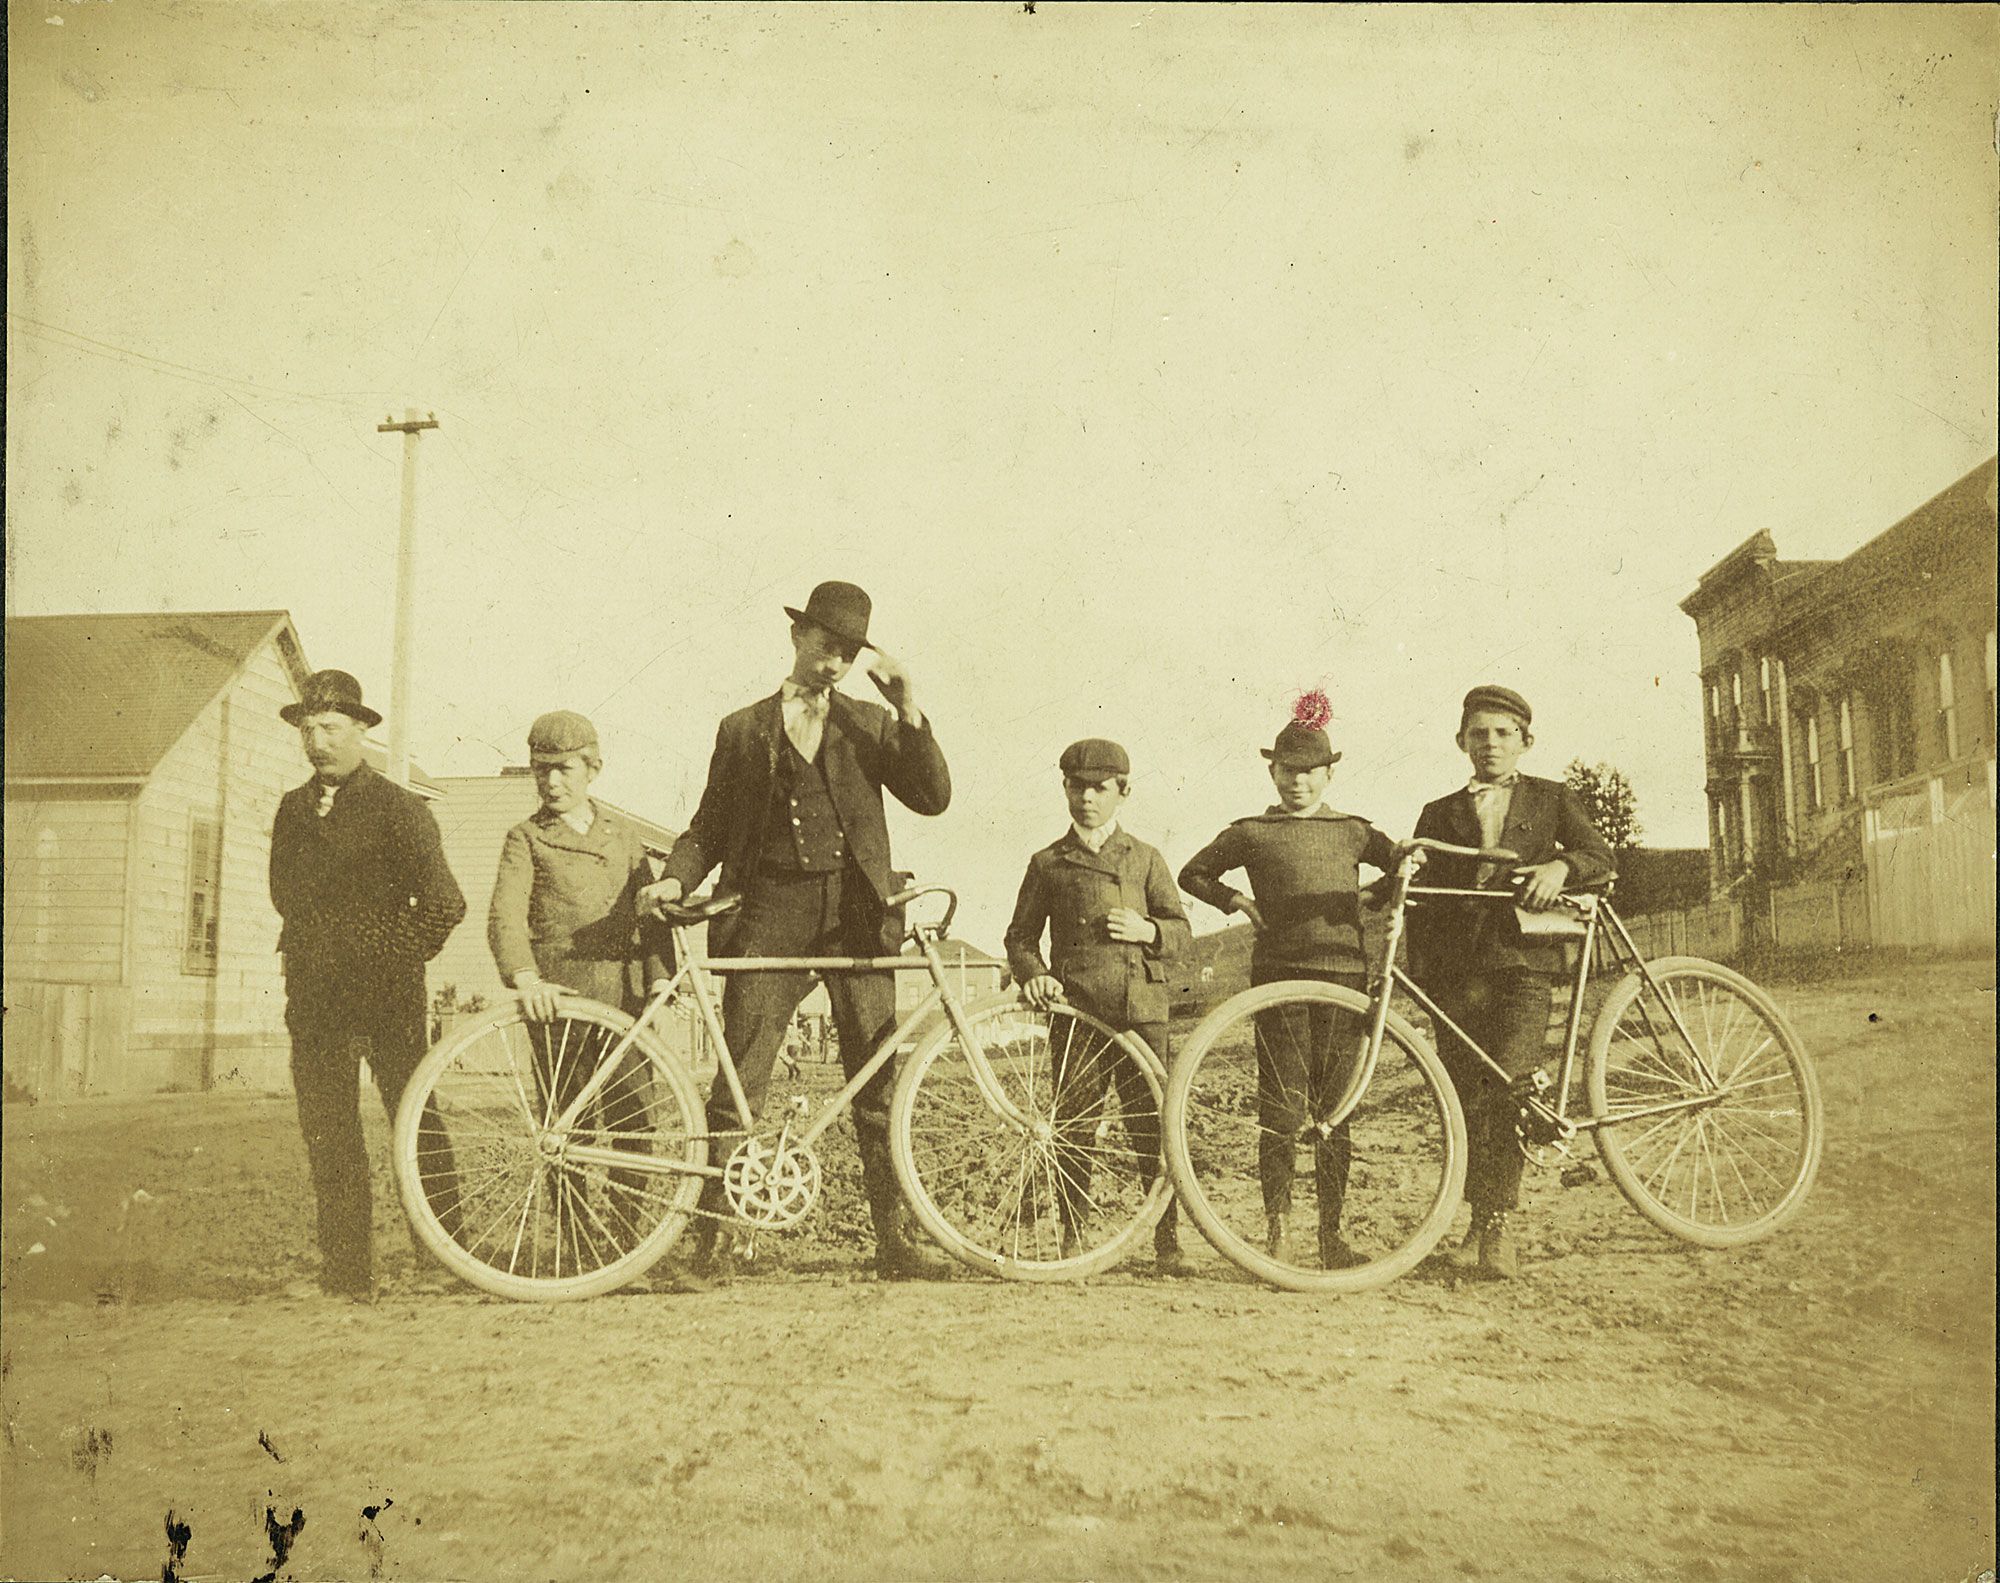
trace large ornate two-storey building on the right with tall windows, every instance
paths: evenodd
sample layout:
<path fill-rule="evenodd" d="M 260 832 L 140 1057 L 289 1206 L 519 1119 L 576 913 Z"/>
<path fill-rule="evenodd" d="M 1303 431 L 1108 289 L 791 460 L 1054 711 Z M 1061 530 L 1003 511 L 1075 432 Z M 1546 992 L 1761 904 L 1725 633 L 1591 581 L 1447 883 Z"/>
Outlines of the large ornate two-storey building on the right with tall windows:
<path fill-rule="evenodd" d="M 1858 877 L 1896 809 L 1956 823 L 1974 793 L 1990 833 L 1994 506 L 1988 460 L 1846 560 L 1780 560 L 1760 532 L 1682 600 L 1714 889 Z"/>

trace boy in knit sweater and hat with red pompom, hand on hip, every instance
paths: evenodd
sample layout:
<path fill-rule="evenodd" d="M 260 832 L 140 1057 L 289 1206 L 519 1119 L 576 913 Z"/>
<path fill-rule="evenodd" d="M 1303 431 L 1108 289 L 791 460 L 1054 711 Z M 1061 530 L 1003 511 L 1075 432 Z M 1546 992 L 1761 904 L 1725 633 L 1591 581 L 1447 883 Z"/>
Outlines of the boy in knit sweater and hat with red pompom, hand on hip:
<path fill-rule="evenodd" d="M 1396 845 L 1356 813 L 1326 807 L 1326 784 L 1340 754 L 1328 742 L 1326 704 L 1300 700 L 1292 724 L 1270 748 L 1270 780 L 1278 801 L 1236 819 L 1180 869 L 1180 887 L 1212 907 L 1238 911 L 1256 929 L 1250 983 L 1316 979 L 1348 989 L 1368 987 L 1362 951 L 1360 863 L 1388 869 Z M 1222 875 L 1242 869 L 1250 889 Z M 1296 1137 L 1340 1091 L 1342 1061 L 1360 1037 L 1358 1019 L 1332 1005 L 1274 1007 L 1258 1015 L 1258 1177 L 1264 1189 L 1266 1247 L 1280 1257 L 1292 1213 Z M 1342 1121 L 1314 1145 L 1318 1193 L 1318 1253 L 1322 1269 L 1366 1263 L 1340 1233 L 1352 1143 Z"/>

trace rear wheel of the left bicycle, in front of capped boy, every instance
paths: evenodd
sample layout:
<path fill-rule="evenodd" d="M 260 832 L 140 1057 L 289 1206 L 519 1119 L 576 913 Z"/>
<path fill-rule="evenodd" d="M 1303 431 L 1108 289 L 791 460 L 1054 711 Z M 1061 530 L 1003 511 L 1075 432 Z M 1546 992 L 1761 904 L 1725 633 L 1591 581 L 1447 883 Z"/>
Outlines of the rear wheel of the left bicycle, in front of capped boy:
<path fill-rule="evenodd" d="M 680 1235 L 708 1159 L 682 1065 L 650 1029 L 598 1095 L 560 1113 L 632 1017 L 564 995 L 552 1021 L 502 1007 L 442 1039 L 396 1113 L 394 1167 L 424 1245 L 498 1297 L 612 1291 Z"/>

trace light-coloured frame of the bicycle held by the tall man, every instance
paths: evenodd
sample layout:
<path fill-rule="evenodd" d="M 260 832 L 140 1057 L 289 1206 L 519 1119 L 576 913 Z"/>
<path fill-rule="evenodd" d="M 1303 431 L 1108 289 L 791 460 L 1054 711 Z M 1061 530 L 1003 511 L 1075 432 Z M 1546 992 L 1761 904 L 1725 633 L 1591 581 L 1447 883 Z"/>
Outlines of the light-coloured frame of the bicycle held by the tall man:
<path fill-rule="evenodd" d="M 914 899 L 916 895 L 952 895 L 952 891 L 942 885 L 928 885 L 920 891 L 910 891 L 902 899 Z M 980 1089 L 986 1103 L 1000 1115 L 1008 1125 L 1028 1131 L 1028 1117 L 1020 1113 L 1012 1099 L 1000 1087 L 1000 1079 L 994 1075 L 992 1065 L 986 1061 L 986 1051 L 972 1031 L 966 1019 L 964 1003 L 952 993 L 950 979 L 946 975 L 944 957 L 938 953 L 938 937 L 948 927 L 952 909 L 956 909 L 956 897 L 952 905 L 946 907 L 942 923 L 918 923 L 910 927 L 910 937 L 916 941 L 920 955 L 916 959 L 908 955 L 880 955 L 880 957 L 708 957 L 694 939 L 694 925 L 674 925 L 674 959 L 680 967 L 670 979 L 664 979 L 654 993 L 646 999 L 644 1009 L 634 1019 L 632 1027 L 626 1029 L 624 1037 L 606 1051 L 590 1073 L 590 1079 L 578 1089 L 576 1097 L 564 1105 L 562 1115 L 550 1123 L 550 1131 L 556 1135 L 570 1133 L 578 1117 L 588 1109 L 596 1095 L 610 1083 L 618 1065 L 624 1061 L 626 1051 L 638 1043 L 640 1033 L 654 1023 L 654 1017 L 674 1001 L 682 989 L 692 997 L 696 1011 L 702 1017 L 702 1025 L 716 1043 L 716 1051 L 722 1063 L 722 1079 L 728 1085 L 730 1101 L 736 1105 L 736 1115 L 742 1121 L 744 1133 L 750 1133 L 756 1125 L 756 1117 L 750 1111 L 750 1099 L 744 1093 L 742 1079 L 736 1073 L 736 1057 L 730 1053 L 728 1039 L 722 1035 L 722 1001 L 716 993 L 718 973 L 930 973 L 930 993 L 902 1019 L 896 1027 L 876 1045 L 874 1055 L 852 1075 L 840 1093 L 832 1095 L 812 1117 L 804 1131 L 796 1135 L 800 1145 L 810 1145 L 820 1133 L 824 1133 L 840 1113 L 854 1103 L 870 1079 L 888 1065 L 902 1041 L 910 1035 L 914 1027 L 924 1023 L 938 1009 L 944 1011 L 946 1019 L 952 1023 L 952 1031 L 958 1033 L 958 1041 L 966 1051 L 966 1063 L 972 1069 L 972 1079 Z M 518 1081 L 518 1079 L 516 1079 Z M 786 1123 L 790 1131 L 790 1123 Z M 592 1145 L 572 1143 L 568 1147 L 568 1157 L 614 1167 L 620 1171 L 652 1171 L 658 1175 L 722 1175 L 720 1163 L 690 1167 L 680 1161 L 666 1159 L 644 1159 L 624 1153 L 620 1149 L 600 1149 Z"/>

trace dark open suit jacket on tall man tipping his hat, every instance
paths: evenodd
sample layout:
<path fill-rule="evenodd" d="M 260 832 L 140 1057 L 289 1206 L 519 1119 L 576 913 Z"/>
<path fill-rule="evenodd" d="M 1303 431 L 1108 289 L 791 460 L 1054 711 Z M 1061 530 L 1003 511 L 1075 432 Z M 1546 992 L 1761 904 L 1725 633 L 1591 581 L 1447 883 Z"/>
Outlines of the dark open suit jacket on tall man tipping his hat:
<path fill-rule="evenodd" d="M 724 716 L 708 760 L 708 784 L 686 833 L 666 857 L 666 877 L 696 889 L 722 865 L 724 889 L 746 889 L 756 877 L 758 845 L 778 795 L 778 752 L 784 714 L 778 694 Z M 820 770 L 840 813 L 848 857 L 878 897 L 902 885 L 890 869 L 888 819 L 882 792 L 916 813 L 942 813 L 952 801 L 952 772 L 944 764 L 930 718 L 912 730 L 880 704 L 832 694 L 820 740 Z M 710 949 L 728 955 L 740 913 L 708 925 Z"/>

